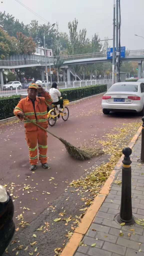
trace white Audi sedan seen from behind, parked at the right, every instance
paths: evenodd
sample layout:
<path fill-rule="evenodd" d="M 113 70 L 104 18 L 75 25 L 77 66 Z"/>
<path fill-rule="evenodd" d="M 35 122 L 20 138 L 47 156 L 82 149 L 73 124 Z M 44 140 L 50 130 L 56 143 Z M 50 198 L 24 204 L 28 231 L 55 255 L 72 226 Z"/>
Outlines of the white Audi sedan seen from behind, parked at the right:
<path fill-rule="evenodd" d="M 102 112 L 141 112 L 144 115 L 144 83 L 120 82 L 113 84 L 102 97 Z"/>

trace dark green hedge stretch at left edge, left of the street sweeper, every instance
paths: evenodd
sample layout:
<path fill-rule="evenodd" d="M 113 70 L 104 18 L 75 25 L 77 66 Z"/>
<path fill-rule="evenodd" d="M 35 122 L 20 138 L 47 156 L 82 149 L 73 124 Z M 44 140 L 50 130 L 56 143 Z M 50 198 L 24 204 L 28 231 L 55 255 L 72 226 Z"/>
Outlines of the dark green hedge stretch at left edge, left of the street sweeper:
<path fill-rule="evenodd" d="M 0 120 L 14 116 L 13 110 L 19 100 L 20 97 L 0 100 Z"/>

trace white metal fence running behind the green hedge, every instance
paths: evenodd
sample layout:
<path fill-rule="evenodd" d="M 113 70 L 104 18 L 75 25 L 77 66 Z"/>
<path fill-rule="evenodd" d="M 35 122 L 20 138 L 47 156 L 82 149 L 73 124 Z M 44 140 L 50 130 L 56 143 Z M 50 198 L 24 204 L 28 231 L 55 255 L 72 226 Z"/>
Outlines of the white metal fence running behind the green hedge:
<path fill-rule="evenodd" d="M 91 86 L 96 84 L 110 84 L 112 82 L 112 79 L 97 79 L 97 80 L 80 80 L 80 81 L 66 81 L 66 82 L 57 82 L 57 86 L 59 89 L 68 89 L 68 88 L 77 88 L 77 87 L 83 87 L 83 86 Z M 0 84 L 0 96 L 10 96 L 15 94 L 23 94 L 27 93 L 29 83 L 22 83 L 22 88 L 14 86 L 9 86 L 7 88 L 4 88 L 4 84 Z M 52 84 L 49 82 L 48 84 L 43 84 L 43 88 L 46 91 L 49 91 Z"/>

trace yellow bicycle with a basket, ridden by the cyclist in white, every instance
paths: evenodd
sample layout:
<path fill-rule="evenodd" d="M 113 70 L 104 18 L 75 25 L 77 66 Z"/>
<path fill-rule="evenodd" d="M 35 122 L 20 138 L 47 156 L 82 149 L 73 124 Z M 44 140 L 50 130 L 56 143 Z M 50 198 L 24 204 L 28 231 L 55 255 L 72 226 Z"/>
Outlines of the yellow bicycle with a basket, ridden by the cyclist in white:
<path fill-rule="evenodd" d="M 61 98 L 60 98 L 61 99 Z M 54 126 L 56 123 L 57 118 L 60 118 L 60 116 L 62 117 L 62 119 L 64 121 L 68 120 L 69 117 L 69 110 L 66 107 L 66 105 L 69 104 L 69 100 L 64 100 L 64 104 L 63 104 L 63 112 L 59 112 L 57 105 L 52 103 L 51 107 L 52 109 L 48 112 L 47 117 L 48 117 L 48 124 L 50 126 Z"/>

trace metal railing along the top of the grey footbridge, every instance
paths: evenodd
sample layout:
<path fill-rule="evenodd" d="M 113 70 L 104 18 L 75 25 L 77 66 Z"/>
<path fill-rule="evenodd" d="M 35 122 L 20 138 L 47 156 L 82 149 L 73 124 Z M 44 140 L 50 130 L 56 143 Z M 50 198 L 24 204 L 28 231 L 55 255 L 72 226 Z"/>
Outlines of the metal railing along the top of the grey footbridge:
<path fill-rule="evenodd" d="M 125 51 L 125 56 L 144 56 L 144 50 L 127 50 Z M 95 52 L 95 53 L 87 53 L 87 54 L 78 54 L 78 55 L 67 55 L 67 56 L 58 56 L 60 59 L 63 59 L 64 62 L 79 60 L 79 59 L 90 59 L 90 58 L 106 58 L 107 52 Z M 50 63 L 54 64 L 54 58 L 50 59 Z M 23 66 L 23 65 L 44 65 L 44 59 L 36 59 L 36 60 L 0 60 L 0 67 L 12 67 L 12 66 Z M 49 65 L 49 60 L 47 60 L 47 65 Z"/>

